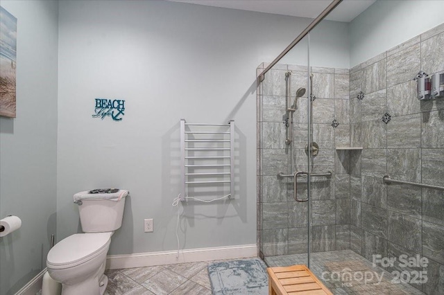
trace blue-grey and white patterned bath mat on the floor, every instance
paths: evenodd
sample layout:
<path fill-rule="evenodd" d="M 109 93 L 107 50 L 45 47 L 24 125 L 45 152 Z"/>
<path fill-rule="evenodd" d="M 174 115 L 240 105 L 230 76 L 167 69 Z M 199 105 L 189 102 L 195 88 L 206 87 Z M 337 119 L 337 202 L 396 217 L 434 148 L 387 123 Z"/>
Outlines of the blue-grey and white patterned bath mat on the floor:
<path fill-rule="evenodd" d="M 208 265 L 213 295 L 267 295 L 268 275 L 259 258 L 228 260 Z"/>

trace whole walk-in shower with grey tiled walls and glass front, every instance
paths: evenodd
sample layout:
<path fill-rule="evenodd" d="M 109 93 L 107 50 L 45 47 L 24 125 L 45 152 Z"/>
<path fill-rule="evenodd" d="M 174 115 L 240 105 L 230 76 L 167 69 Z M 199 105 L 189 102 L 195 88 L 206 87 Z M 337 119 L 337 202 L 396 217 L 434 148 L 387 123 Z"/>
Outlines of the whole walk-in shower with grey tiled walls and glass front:
<path fill-rule="evenodd" d="M 259 256 L 334 294 L 444 294 L 444 98 L 414 80 L 444 73 L 444 24 L 396 46 L 358 34 L 405 2 L 323 20 L 257 69 Z"/>

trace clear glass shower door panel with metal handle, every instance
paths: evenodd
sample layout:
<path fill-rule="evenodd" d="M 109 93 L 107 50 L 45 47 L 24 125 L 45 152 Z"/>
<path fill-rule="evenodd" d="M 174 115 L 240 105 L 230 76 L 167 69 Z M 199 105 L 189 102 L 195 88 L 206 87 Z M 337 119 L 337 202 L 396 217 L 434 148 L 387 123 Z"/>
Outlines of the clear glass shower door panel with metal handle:
<path fill-rule="evenodd" d="M 265 74 L 257 91 L 258 244 L 269 266 L 308 264 L 307 56 L 305 38 Z"/>

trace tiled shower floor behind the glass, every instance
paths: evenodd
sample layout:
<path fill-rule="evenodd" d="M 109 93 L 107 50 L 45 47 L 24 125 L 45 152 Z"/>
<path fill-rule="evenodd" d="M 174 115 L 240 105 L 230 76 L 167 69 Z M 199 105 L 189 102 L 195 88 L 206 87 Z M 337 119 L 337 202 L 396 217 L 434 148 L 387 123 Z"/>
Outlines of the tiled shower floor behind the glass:
<path fill-rule="evenodd" d="M 372 262 L 351 250 L 311 253 L 310 259 L 311 271 L 321 280 L 323 280 L 324 273 L 324 278 L 327 278 L 328 281 L 323 280 L 323 283 L 333 294 L 424 294 L 407 283 L 391 283 L 393 276 L 388 271 L 384 271 L 380 267 L 373 267 Z M 265 258 L 265 262 L 269 267 L 307 265 L 307 254 L 271 256 Z M 339 279 L 336 279 L 334 273 L 340 274 Z M 350 276 L 343 276 L 345 273 L 364 274 L 364 276 L 368 274 L 368 280 L 367 282 L 359 280 L 360 276 L 357 276 L 358 280 L 353 277 L 348 280 Z M 370 279 L 371 277 L 373 278 Z M 382 279 L 379 280 L 379 278 Z"/>

